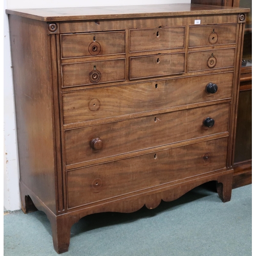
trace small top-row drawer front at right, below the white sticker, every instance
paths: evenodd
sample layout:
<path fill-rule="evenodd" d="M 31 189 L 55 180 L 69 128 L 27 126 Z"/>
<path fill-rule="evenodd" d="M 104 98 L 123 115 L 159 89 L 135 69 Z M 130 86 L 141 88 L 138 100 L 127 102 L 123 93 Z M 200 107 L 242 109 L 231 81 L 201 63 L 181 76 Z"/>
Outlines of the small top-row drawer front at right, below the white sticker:
<path fill-rule="evenodd" d="M 237 24 L 189 28 L 188 47 L 235 44 Z"/>

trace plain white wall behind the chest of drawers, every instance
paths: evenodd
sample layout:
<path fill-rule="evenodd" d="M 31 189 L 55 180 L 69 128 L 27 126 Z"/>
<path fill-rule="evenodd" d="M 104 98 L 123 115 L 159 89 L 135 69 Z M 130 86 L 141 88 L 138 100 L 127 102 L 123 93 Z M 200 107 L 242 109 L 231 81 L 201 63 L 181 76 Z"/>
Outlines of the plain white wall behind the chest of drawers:
<path fill-rule="evenodd" d="M 5 9 L 56 8 L 84 6 L 125 6 L 190 3 L 190 0 L 4 0 Z M 8 16 L 4 17 L 4 206 L 7 210 L 20 209 L 18 188 L 18 155 L 16 145 L 15 112 L 9 42 Z"/>

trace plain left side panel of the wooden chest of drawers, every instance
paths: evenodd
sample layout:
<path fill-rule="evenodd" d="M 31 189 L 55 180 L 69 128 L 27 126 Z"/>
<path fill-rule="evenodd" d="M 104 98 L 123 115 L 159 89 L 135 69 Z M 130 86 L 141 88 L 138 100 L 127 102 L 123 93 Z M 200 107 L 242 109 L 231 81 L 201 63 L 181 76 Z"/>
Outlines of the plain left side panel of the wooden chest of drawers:
<path fill-rule="evenodd" d="M 50 38 L 37 20 L 11 15 L 9 21 L 19 178 L 56 213 Z"/>

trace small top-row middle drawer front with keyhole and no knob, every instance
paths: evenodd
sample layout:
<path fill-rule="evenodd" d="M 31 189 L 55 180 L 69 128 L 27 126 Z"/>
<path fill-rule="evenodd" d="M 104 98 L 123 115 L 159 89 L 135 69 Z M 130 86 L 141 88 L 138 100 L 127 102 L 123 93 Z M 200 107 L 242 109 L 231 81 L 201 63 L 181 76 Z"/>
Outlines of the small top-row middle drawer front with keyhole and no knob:
<path fill-rule="evenodd" d="M 130 52 L 174 49 L 184 46 L 185 27 L 130 30 Z"/>

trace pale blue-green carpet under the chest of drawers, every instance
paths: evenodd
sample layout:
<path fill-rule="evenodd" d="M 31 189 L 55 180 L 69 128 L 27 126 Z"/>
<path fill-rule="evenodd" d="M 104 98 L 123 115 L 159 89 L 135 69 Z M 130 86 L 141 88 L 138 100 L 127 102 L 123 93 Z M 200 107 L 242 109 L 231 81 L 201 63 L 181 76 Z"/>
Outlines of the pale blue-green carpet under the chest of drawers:
<path fill-rule="evenodd" d="M 227 203 L 210 188 L 199 186 L 153 210 L 84 217 L 62 255 L 251 255 L 251 185 L 233 189 Z M 44 212 L 4 216 L 4 255 L 57 255 Z"/>

